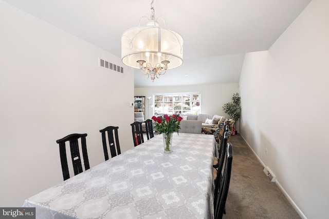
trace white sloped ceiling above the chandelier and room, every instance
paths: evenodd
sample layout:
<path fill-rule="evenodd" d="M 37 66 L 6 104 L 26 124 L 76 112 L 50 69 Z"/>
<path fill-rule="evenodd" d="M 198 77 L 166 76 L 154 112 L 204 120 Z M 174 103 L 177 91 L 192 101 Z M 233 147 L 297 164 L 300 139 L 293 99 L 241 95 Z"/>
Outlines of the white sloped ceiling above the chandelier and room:
<path fill-rule="evenodd" d="M 121 34 L 150 16 L 151 0 L 0 0 L 121 57 Z M 246 52 L 268 50 L 311 0 L 154 0 L 184 38 L 184 63 L 135 87 L 238 83 Z M 189 74 L 189 76 L 185 76 Z"/>

